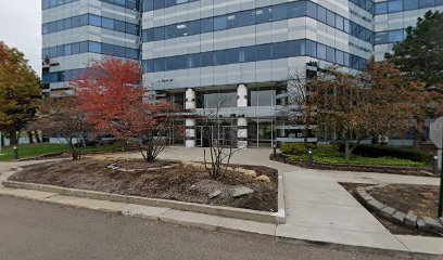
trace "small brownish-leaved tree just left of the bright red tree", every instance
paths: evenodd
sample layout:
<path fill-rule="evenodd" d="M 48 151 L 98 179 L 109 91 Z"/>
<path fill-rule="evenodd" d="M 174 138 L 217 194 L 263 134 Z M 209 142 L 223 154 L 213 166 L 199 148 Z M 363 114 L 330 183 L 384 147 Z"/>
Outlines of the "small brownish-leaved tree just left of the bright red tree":
<path fill-rule="evenodd" d="M 68 146 L 73 160 L 80 159 L 85 140 L 93 129 L 86 121 L 86 114 L 78 109 L 78 100 L 75 96 L 46 98 L 38 114 L 29 128 L 60 135 Z"/>

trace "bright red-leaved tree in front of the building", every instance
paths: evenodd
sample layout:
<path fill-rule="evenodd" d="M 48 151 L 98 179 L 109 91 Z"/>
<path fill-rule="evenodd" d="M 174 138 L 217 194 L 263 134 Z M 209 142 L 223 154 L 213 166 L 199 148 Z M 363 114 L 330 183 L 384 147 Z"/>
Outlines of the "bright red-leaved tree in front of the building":
<path fill-rule="evenodd" d="M 167 144 L 169 120 L 177 115 L 165 101 L 155 100 L 142 84 L 139 63 L 105 58 L 93 63 L 71 82 L 87 121 L 100 133 L 136 140 L 145 161 L 153 161 Z"/>

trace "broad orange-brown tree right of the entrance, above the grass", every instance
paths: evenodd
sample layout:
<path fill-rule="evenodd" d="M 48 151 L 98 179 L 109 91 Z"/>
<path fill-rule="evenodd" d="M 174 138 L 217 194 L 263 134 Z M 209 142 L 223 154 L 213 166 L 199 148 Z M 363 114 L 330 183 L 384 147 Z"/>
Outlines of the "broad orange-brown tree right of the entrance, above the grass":
<path fill-rule="evenodd" d="M 368 62 L 357 75 L 330 67 L 315 79 L 311 99 L 317 130 L 344 142 L 345 157 L 364 139 L 404 131 L 413 117 L 414 86 L 389 63 Z"/>

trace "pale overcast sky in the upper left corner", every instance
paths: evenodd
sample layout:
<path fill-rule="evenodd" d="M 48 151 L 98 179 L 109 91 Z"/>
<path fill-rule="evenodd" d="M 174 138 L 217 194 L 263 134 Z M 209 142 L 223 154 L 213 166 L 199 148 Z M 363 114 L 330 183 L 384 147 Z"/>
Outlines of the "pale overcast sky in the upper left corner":
<path fill-rule="evenodd" d="M 41 0 L 0 0 L 0 41 L 25 53 L 41 70 Z"/>

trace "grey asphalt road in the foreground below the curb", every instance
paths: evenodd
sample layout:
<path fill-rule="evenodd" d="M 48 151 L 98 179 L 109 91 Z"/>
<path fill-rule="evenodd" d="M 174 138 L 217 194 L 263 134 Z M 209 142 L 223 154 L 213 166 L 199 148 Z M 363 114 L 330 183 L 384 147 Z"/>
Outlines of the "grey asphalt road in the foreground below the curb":
<path fill-rule="evenodd" d="M 404 259 L 0 196 L 0 259 Z"/>

